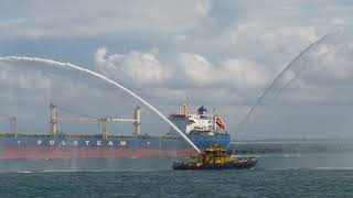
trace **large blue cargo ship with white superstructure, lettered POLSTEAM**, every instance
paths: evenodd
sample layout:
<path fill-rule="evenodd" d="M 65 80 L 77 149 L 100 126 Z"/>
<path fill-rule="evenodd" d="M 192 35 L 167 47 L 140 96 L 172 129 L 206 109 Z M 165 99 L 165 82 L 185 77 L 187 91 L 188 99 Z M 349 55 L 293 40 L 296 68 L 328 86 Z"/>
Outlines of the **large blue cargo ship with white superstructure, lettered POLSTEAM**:
<path fill-rule="evenodd" d="M 197 154 L 185 140 L 173 129 L 164 135 L 141 134 L 141 109 L 137 107 L 132 119 L 105 118 L 60 118 L 57 107 L 50 105 L 50 134 L 19 134 L 15 130 L 15 118 L 8 119 L 12 123 L 11 133 L 0 134 L 0 160 L 20 158 L 179 158 Z M 231 135 L 221 117 L 214 111 L 201 107 L 196 112 L 189 111 L 186 105 L 180 106 L 179 112 L 169 119 L 185 133 L 200 148 L 205 150 L 214 144 L 226 147 Z M 100 134 L 73 135 L 63 134 L 58 122 L 97 121 L 101 125 Z M 108 122 L 131 122 L 131 135 L 108 134 Z"/>

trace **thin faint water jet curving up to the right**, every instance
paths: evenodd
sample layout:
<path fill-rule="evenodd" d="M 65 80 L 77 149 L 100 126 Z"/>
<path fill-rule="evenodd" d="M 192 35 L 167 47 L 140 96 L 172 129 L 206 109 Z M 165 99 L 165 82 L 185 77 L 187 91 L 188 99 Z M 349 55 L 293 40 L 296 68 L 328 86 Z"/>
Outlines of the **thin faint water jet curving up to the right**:
<path fill-rule="evenodd" d="M 322 36 L 320 40 L 313 42 L 312 44 L 310 44 L 306 50 L 303 50 L 293 61 L 291 61 L 287 67 L 285 67 L 285 69 L 279 73 L 279 75 L 277 75 L 277 77 L 271 81 L 271 84 L 265 89 L 265 91 L 260 95 L 260 97 L 256 100 L 255 105 L 250 108 L 250 110 L 247 112 L 247 114 L 245 116 L 245 118 L 242 120 L 242 122 L 239 123 L 239 129 L 242 130 L 242 127 L 246 123 L 246 121 L 250 118 L 250 116 L 253 114 L 253 112 L 255 111 L 255 109 L 258 107 L 258 105 L 263 101 L 263 99 L 267 96 L 267 94 L 274 88 L 274 86 L 276 85 L 276 82 L 280 79 L 281 76 L 284 76 L 292 66 L 292 64 L 295 64 L 298 59 L 300 59 L 308 51 L 310 51 L 312 47 L 319 45 L 320 43 L 322 43 L 323 41 L 325 41 L 328 37 L 332 36 L 334 34 L 327 34 L 324 36 Z M 299 70 L 300 72 L 300 70 Z M 295 74 L 296 78 L 298 76 L 298 74 Z M 290 82 L 292 82 L 293 80 L 289 80 L 289 82 L 287 82 L 285 85 L 285 87 L 288 87 Z M 279 91 L 281 91 L 282 88 L 280 88 Z M 277 94 L 278 96 L 278 94 Z"/>

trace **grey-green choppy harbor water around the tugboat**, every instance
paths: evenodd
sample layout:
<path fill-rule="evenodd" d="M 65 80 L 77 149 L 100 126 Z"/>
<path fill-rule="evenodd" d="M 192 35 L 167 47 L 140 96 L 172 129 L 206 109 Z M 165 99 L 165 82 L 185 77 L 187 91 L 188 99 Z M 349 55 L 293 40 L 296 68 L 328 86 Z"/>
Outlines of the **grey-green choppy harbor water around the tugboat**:
<path fill-rule="evenodd" d="M 1 197 L 352 197 L 353 153 L 258 155 L 247 170 L 175 160 L 1 161 Z"/>

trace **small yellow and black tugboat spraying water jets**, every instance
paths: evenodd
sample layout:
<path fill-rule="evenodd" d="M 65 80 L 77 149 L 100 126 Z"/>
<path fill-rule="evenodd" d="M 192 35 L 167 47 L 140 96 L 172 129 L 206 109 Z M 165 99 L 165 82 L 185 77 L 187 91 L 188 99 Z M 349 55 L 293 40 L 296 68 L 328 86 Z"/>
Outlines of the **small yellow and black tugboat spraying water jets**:
<path fill-rule="evenodd" d="M 215 144 L 194 156 L 195 162 L 174 162 L 173 169 L 248 169 L 257 164 L 255 157 L 232 157 L 221 145 Z"/>

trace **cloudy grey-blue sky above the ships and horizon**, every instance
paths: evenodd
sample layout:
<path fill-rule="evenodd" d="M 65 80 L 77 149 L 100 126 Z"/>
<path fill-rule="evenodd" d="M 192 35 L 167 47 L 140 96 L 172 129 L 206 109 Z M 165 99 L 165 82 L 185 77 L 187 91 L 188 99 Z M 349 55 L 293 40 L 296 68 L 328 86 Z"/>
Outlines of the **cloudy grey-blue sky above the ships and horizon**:
<path fill-rule="evenodd" d="M 0 1 L 0 56 L 88 68 L 167 116 L 180 102 L 216 107 L 234 139 L 353 138 L 349 0 Z M 296 59 L 278 87 L 290 85 L 265 97 L 239 125 L 276 76 L 332 33 Z M 92 117 L 130 117 L 140 105 L 94 77 L 34 63 L 0 63 L 0 114 L 17 116 L 23 132 L 49 131 L 50 101 Z M 168 130 L 153 113 L 142 112 L 143 132 Z"/>

